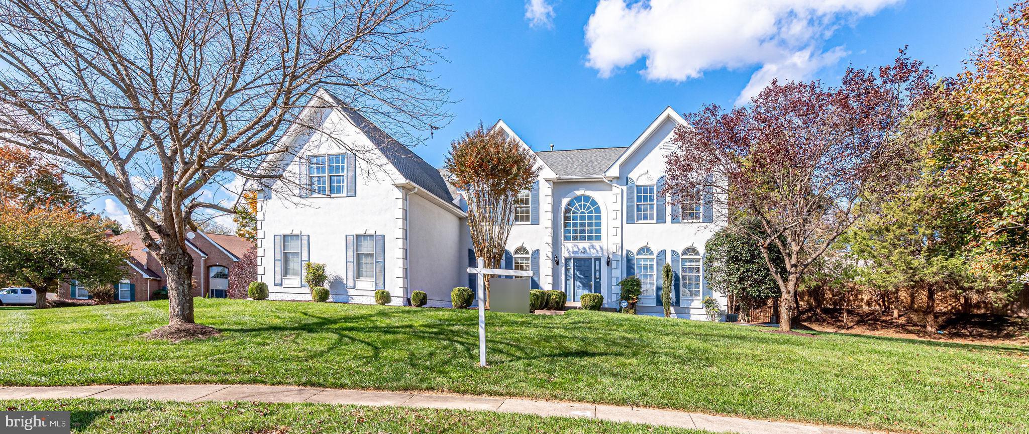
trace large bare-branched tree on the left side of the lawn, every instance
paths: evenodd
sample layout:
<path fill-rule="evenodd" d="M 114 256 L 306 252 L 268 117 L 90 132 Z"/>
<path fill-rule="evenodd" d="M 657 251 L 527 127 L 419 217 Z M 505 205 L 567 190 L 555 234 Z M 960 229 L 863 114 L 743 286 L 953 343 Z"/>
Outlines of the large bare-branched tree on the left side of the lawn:
<path fill-rule="evenodd" d="M 256 168 L 318 129 L 301 108 L 319 88 L 393 134 L 438 128 L 424 34 L 448 13 L 433 0 L 0 2 L 0 143 L 119 201 L 166 272 L 170 325 L 188 326 L 190 222 L 233 212 L 212 190 L 272 185 Z"/>

